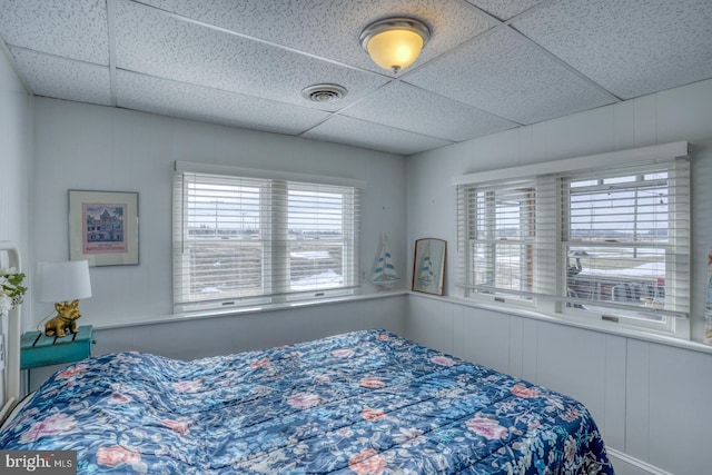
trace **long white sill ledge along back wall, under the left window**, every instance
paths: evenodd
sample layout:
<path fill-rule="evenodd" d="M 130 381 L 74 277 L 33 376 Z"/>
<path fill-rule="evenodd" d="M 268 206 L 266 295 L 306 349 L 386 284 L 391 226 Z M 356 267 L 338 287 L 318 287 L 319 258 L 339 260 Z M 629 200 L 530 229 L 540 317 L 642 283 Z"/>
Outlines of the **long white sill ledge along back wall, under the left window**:
<path fill-rule="evenodd" d="M 249 314 L 259 314 L 266 311 L 279 311 L 287 310 L 290 308 L 304 308 L 304 307 L 315 307 L 322 305 L 333 305 L 333 304 L 344 304 L 344 303 L 353 303 L 359 300 L 374 300 L 378 298 L 388 298 L 396 297 L 399 295 L 407 295 L 407 290 L 388 290 L 388 291 L 377 291 L 372 294 L 360 294 L 360 295 L 349 295 L 349 296 L 338 296 L 338 297 L 329 297 L 329 298 L 320 298 L 313 300 L 299 300 L 299 301 L 290 301 L 284 304 L 265 304 L 265 305 L 250 305 L 245 307 L 233 307 L 229 310 L 226 309 L 216 309 L 209 311 L 191 311 L 186 314 L 170 314 L 170 315 L 161 315 L 161 316 L 152 316 L 152 317 L 134 317 L 134 318 L 123 318 L 120 320 L 112 320 L 111 323 L 95 323 L 95 330 L 102 329 L 112 329 L 112 328 L 128 328 L 128 327 L 137 327 L 142 325 L 161 325 L 161 324 L 170 324 L 176 321 L 191 321 L 191 320 L 201 320 L 205 318 L 220 318 L 220 317 L 230 317 L 237 315 L 249 315 Z"/>

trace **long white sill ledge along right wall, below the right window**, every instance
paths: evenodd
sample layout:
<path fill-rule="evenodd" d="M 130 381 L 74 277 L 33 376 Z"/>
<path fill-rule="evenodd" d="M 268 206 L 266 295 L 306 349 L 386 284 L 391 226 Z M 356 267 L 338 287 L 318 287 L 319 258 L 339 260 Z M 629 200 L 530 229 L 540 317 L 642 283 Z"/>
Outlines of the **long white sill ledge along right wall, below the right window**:
<path fill-rule="evenodd" d="M 655 343 L 660 345 L 666 345 L 666 346 L 689 349 L 689 350 L 699 352 L 699 353 L 712 354 L 712 346 L 710 345 L 705 345 L 699 342 L 686 340 L 682 338 L 675 338 L 672 336 L 654 335 L 645 331 L 637 331 L 631 328 L 614 328 L 613 325 L 615 324 L 611 324 L 611 326 L 585 324 L 581 321 L 571 321 L 562 317 L 555 317 L 555 316 L 542 314 L 535 310 L 527 310 L 524 308 L 516 308 L 516 307 L 504 306 L 504 305 L 485 304 L 482 301 L 468 300 L 466 298 L 457 298 L 457 297 L 451 297 L 451 296 L 441 297 L 441 296 L 434 296 L 434 295 L 427 295 L 427 294 L 421 294 L 421 293 L 414 293 L 414 291 L 408 291 L 408 294 L 412 296 L 417 296 L 422 298 L 447 301 L 449 304 L 459 305 L 463 307 L 482 308 L 486 310 L 497 311 L 501 314 L 507 314 L 507 315 L 514 315 L 517 317 L 547 321 L 556 325 L 564 325 L 568 327 L 582 328 L 582 329 L 587 329 L 592 331 L 621 336 L 624 338 L 633 338 L 641 342 Z"/>

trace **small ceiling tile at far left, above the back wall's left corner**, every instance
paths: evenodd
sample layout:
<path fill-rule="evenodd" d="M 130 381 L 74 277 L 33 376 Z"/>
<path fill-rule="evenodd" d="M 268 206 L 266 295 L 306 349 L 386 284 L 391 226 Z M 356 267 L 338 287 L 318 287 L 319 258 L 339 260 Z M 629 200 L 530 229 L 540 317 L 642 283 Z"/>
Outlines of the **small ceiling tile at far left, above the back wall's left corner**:
<path fill-rule="evenodd" d="M 18 69 L 37 96 L 111 105 L 109 68 L 10 48 Z"/>

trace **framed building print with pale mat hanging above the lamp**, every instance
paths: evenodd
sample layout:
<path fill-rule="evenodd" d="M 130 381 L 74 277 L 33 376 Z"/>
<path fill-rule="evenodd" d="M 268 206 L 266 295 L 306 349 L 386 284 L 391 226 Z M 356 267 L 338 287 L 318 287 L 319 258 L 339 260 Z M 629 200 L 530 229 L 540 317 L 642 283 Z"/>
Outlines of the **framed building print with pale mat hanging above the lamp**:
<path fill-rule="evenodd" d="M 69 259 L 139 264 L 138 192 L 69 190 Z"/>

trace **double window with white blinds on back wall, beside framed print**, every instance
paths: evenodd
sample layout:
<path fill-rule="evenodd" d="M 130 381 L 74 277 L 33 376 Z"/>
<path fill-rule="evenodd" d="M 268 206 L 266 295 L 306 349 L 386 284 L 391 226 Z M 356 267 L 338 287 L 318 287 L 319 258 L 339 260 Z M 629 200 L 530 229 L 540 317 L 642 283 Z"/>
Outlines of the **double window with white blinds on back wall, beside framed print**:
<path fill-rule="evenodd" d="M 359 188 L 236 171 L 175 176 L 175 310 L 352 293 Z"/>

